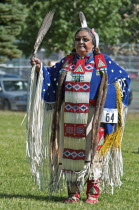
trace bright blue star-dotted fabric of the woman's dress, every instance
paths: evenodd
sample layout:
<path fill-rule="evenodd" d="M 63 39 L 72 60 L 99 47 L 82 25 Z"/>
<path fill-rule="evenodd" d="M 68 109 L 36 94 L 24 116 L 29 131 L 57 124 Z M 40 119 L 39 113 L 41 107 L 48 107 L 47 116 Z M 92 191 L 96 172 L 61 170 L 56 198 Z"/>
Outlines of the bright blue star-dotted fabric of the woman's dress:
<path fill-rule="evenodd" d="M 105 108 L 116 108 L 116 90 L 114 82 L 120 80 L 122 85 L 122 102 L 127 106 L 129 98 L 129 85 L 130 78 L 127 72 L 118 66 L 108 55 L 104 55 L 107 63 L 107 74 L 108 74 L 108 92 L 106 97 Z M 60 62 L 56 63 L 52 67 L 43 67 L 43 84 L 42 84 L 42 98 L 48 103 L 56 101 L 56 91 L 58 85 L 59 71 L 62 68 L 62 64 L 65 58 Z M 77 62 L 78 56 L 75 57 L 74 62 Z M 90 63 L 94 58 L 90 57 L 86 63 Z M 100 85 L 101 77 L 96 75 L 96 68 L 92 72 L 92 78 L 90 82 L 90 99 L 97 97 L 98 88 Z M 63 89 L 64 96 L 64 89 Z M 106 133 L 111 133 L 115 130 L 115 125 L 105 124 Z"/>

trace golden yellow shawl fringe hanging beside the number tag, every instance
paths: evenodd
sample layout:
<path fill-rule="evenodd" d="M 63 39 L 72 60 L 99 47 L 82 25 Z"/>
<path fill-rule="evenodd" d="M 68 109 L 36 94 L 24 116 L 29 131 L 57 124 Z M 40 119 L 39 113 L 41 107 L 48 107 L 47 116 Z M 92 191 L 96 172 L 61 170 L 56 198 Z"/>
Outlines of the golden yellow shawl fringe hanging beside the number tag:
<path fill-rule="evenodd" d="M 118 82 L 115 82 L 116 87 L 116 107 L 118 110 L 118 123 L 116 127 L 116 131 L 111 134 L 106 134 L 104 145 L 100 149 L 100 154 L 105 155 L 106 152 L 113 147 L 113 149 L 120 149 L 121 139 L 123 134 L 122 128 L 122 97 L 121 91 Z"/>

